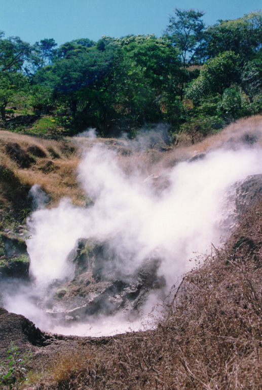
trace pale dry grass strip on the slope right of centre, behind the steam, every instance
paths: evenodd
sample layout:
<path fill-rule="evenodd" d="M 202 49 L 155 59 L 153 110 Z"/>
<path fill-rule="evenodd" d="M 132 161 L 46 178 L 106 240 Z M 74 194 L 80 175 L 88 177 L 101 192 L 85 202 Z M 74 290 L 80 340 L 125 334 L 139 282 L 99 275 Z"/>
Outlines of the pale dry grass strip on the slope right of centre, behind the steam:
<path fill-rule="evenodd" d="M 177 146 L 160 151 L 156 148 L 135 151 L 130 145 L 131 153 L 118 153 L 121 166 L 127 174 L 139 171 L 149 175 L 165 175 L 179 161 L 188 160 L 199 153 L 207 153 L 217 148 L 235 149 L 240 145 L 250 147 L 254 144 L 262 146 L 262 116 L 240 119 L 224 128 L 219 133 L 204 138 L 192 145 L 185 134 L 177 136 Z M 121 151 L 121 149 L 120 149 Z"/>

